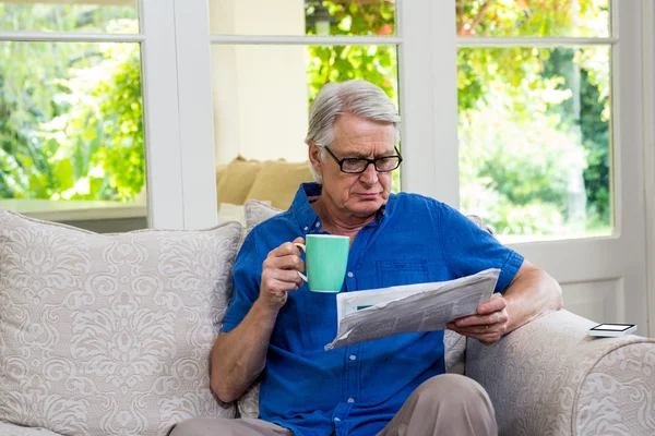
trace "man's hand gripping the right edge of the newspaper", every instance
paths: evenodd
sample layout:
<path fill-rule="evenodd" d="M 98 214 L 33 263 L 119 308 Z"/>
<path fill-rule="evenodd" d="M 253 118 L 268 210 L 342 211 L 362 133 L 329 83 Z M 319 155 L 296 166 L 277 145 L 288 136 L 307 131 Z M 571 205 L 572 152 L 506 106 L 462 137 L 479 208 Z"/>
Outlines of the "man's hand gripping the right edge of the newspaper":
<path fill-rule="evenodd" d="M 508 330 L 510 316 L 507 305 L 502 295 L 493 294 L 491 300 L 480 304 L 477 315 L 455 319 L 454 323 L 448 324 L 448 328 L 490 346 L 498 342 Z"/>

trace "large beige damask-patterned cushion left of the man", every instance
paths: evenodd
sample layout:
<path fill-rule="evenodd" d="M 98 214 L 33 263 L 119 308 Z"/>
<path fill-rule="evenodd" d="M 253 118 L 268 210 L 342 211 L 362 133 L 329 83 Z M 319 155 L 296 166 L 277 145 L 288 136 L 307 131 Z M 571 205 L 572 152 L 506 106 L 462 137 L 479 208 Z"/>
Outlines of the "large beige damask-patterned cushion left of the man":
<path fill-rule="evenodd" d="M 0 421 L 165 435 L 210 390 L 241 228 L 96 234 L 0 210 Z"/>

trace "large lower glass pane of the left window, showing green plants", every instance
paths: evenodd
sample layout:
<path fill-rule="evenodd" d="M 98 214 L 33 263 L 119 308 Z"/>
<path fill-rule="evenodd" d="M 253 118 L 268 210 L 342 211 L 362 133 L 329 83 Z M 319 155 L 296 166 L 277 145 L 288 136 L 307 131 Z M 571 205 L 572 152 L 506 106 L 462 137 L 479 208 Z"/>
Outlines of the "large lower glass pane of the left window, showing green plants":
<path fill-rule="evenodd" d="M 0 43 L 0 207 L 97 206 L 144 227 L 139 44 Z"/>

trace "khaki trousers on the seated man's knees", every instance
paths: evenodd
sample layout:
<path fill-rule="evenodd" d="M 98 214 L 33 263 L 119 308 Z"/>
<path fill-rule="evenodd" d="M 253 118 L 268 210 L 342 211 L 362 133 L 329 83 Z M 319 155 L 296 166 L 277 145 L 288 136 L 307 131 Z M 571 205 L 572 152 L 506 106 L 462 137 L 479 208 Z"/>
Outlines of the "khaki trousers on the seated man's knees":
<path fill-rule="evenodd" d="M 498 435 L 493 405 L 475 380 L 443 374 L 409 396 L 380 436 Z M 188 420 L 170 436 L 293 436 L 284 427 L 253 419 Z"/>

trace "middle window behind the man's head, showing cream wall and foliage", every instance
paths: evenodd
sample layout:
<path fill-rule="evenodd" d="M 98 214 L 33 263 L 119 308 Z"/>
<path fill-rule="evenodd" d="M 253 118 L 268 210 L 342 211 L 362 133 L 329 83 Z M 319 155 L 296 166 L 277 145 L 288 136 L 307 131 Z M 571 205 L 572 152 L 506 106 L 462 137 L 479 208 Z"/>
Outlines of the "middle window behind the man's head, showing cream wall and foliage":
<path fill-rule="evenodd" d="M 380 86 L 397 107 L 397 50 L 388 40 L 395 34 L 393 1 L 262 2 L 259 9 L 241 3 L 210 2 L 219 173 L 237 158 L 263 166 L 285 159 L 308 167 L 303 141 L 309 107 L 325 83 L 364 78 Z M 311 180 L 309 168 L 303 174 Z M 400 182 L 395 171 L 394 190 Z M 218 183 L 221 203 L 254 198 L 248 193 L 243 198 L 226 195 L 221 186 L 227 183 Z M 286 198 L 276 205 L 288 207 L 290 196 Z"/>

